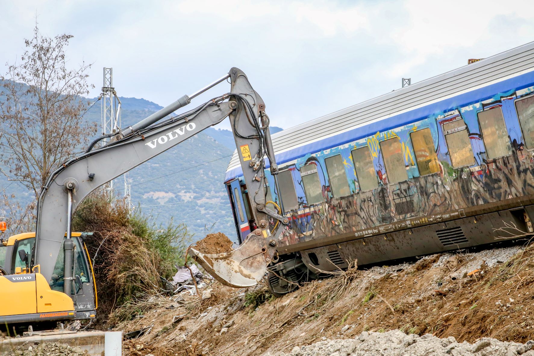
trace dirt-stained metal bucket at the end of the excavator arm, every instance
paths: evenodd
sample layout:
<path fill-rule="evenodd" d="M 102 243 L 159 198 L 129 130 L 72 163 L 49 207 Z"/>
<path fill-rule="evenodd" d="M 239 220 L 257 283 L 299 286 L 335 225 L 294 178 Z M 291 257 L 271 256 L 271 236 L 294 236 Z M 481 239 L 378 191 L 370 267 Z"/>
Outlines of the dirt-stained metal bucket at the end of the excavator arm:
<path fill-rule="evenodd" d="M 267 271 L 268 247 L 263 236 L 249 234 L 239 248 L 223 254 L 189 254 L 217 281 L 225 286 L 246 288 L 257 284 Z M 267 258 L 267 259 L 266 259 Z"/>

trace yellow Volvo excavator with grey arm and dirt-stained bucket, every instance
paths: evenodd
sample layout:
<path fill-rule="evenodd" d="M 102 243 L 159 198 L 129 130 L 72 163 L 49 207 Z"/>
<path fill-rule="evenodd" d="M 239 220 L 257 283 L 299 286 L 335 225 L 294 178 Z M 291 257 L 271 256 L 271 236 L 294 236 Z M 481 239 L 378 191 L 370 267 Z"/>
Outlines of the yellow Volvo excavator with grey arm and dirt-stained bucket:
<path fill-rule="evenodd" d="M 167 117 L 228 79 L 230 92 Z M 247 76 L 234 67 L 217 81 L 137 124 L 95 139 L 87 151 L 52 172 L 38 197 L 36 231 L 9 238 L 0 234 L 0 326 L 95 318 L 95 276 L 83 242 L 90 234 L 71 231 L 73 211 L 99 186 L 226 117 L 240 153 L 257 228 L 231 252 L 204 255 L 192 250 L 191 254 L 227 286 L 249 287 L 260 281 L 266 266 L 278 259 L 276 248 L 282 231 L 271 231 L 268 221 L 279 221 L 275 225 L 279 227 L 287 225 L 288 219 L 266 207 L 265 161 L 269 160 L 274 177 L 278 167 L 265 104 Z M 103 140 L 103 145 L 97 146 Z M 0 223 L 0 230 L 6 230 L 5 223 Z"/>

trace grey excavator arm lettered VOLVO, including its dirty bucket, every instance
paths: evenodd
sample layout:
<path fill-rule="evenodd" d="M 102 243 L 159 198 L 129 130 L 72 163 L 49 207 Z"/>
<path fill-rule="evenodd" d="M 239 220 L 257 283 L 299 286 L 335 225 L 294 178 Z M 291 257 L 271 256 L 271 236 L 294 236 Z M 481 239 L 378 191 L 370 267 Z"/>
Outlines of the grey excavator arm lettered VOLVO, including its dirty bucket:
<path fill-rule="evenodd" d="M 158 122 L 227 78 L 231 80 L 229 93 Z M 240 160 L 258 229 L 238 249 L 227 254 L 204 255 L 193 250 L 192 255 L 226 285 L 248 287 L 257 283 L 265 274 L 266 265 L 276 254 L 278 239 L 274 236 L 276 232 L 273 235 L 269 231 L 268 216 L 280 220 L 280 224 L 277 224 L 279 226 L 288 222 L 287 218 L 265 207 L 265 157 L 270 160 L 271 173 L 276 176 L 278 172 L 268 116 L 264 110 L 262 98 L 254 91 L 246 75 L 238 68 L 231 68 L 229 74 L 191 96 L 183 96 L 139 123 L 93 141 L 87 152 L 54 171 L 42 189 L 37 205 L 35 259 L 32 266 L 40 265 L 41 274 L 46 280 L 51 279 L 66 231 L 64 289 L 69 291 L 73 259 L 70 223 L 73 211 L 82 200 L 99 186 L 229 116 L 238 152 L 250 152 L 250 155 L 241 154 Z M 104 138 L 109 138 L 108 143 L 94 148 Z M 243 147 L 246 150 L 241 151 L 240 148 Z"/>

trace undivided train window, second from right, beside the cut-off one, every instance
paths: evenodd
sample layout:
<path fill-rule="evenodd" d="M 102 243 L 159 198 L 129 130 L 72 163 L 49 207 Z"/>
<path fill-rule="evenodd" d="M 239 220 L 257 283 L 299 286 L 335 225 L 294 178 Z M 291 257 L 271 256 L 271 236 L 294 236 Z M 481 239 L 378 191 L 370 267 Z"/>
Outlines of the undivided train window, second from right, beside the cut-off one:
<path fill-rule="evenodd" d="M 484 146 L 486 146 L 486 155 L 489 159 L 512 154 L 512 147 L 500 106 L 479 112 L 478 123 L 482 131 Z"/>

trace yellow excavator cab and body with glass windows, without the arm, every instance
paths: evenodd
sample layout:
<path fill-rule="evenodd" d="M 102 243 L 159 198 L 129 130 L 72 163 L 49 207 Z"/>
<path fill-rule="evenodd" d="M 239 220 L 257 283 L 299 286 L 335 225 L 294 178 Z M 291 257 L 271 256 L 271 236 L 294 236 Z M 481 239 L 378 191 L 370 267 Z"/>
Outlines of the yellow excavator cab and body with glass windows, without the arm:
<path fill-rule="evenodd" d="M 83 242 L 87 233 L 72 233 L 74 241 L 73 283 L 70 295 L 64 293 L 64 252 L 60 251 L 54 274 L 46 281 L 40 265 L 30 268 L 35 251 L 35 232 L 10 236 L 0 241 L 0 300 L 20 296 L 0 304 L 0 324 L 33 320 L 95 318 L 97 308 L 95 279 Z"/>

